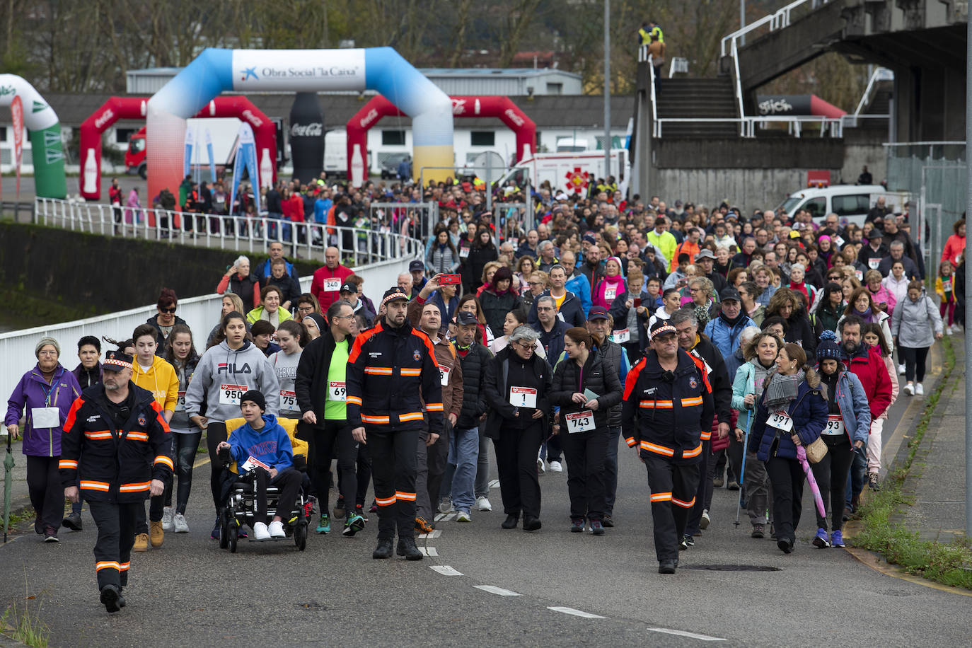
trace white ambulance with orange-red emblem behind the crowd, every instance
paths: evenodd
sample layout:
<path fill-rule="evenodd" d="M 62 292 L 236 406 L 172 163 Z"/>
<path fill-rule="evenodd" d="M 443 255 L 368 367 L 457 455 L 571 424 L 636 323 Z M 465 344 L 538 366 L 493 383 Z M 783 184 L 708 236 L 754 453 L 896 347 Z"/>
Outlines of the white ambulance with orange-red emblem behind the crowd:
<path fill-rule="evenodd" d="M 529 179 L 533 187 L 539 187 L 544 181 L 548 181 L 555 192 L 564 190 L 568 193 L 586 194 L 589 183 L 607 176 L 614 176 L 618 188 L 623 191 L 628 185 L 630 175 L 631 164 L 627 149 L 613 149 L 610 152 L 610 169 L 607 174 L 604 151 L 535 153 L 533 157 L 511 167 L 497 184 L 505 187 L 512 182 L 517 187 L 523 187 Z"/>

